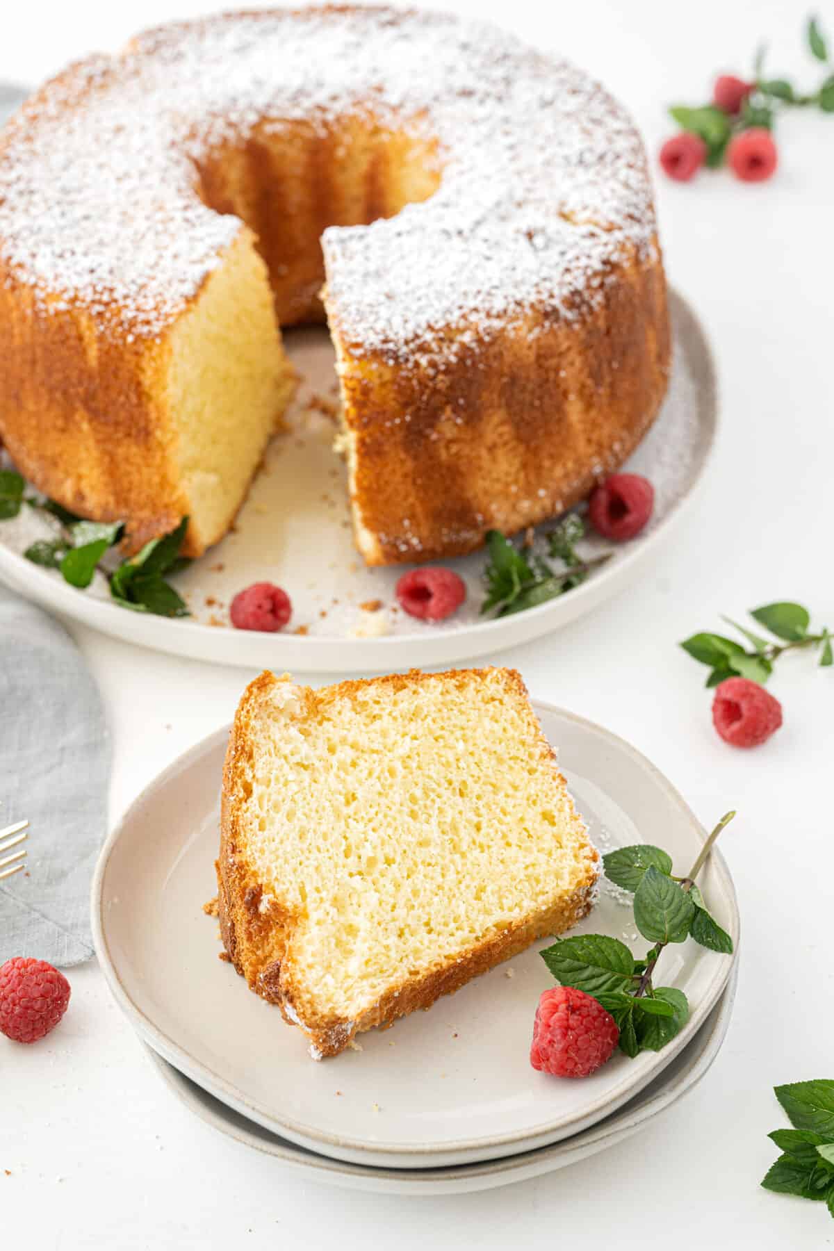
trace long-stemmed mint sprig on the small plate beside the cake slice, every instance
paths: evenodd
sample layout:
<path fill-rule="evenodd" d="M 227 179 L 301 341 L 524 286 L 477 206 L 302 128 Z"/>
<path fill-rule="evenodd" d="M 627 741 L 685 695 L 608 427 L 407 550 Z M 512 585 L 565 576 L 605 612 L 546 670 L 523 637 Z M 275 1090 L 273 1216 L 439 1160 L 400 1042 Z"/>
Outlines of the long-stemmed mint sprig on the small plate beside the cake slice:
<path fill-rule="evenodd" d="M 625 943 L 609 934 L 558 938 L 539 952 L 558 982 L 591 995 L 610 1012 L 626 1056 L 660 1051 L 689 1020 L 684 992 L 654 985 L 658 961 L 669 943 L 691 937 L 711 951 L 733 951 L 733 940 L 708 912 L 695 877 L 734 816 L 728 812 L 721 817 L 684 878 L 673 876 L 668 852 L 649 843 L 619 847 L 603 857 L 605 877 L 633 892 L 634 923 L 654 943 L 643 960 L 635 960 Z"/>

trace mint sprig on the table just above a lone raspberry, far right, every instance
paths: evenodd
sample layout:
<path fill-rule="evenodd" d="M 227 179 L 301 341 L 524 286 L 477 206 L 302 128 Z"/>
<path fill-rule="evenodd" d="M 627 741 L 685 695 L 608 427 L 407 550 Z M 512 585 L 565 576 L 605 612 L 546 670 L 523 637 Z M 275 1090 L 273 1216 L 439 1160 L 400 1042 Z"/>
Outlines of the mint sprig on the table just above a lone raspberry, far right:
<path fill-rule="evenodd" d="M 759 682 L 764 686 L 779 657 L 796 648 L 819 647 L 820 668 L 828 668 L 834 663 L 831 636 L 828 627 L 813 632 L 810 629 L 810 613 L 803 604 L 788 600 L 763 604 L 761 608 L 751 608 L 750 617 L 759 626 L 764 626 L 774 638 L 766 638 L 725 617 L 724 620 L 728 626 L 731 626 L 746 639 L 750 644 L 749 648 L 724 634 L 705 632 L 690 634 L 680 644 L 693 659 L 709 666 L 708 687 L 716 687 L 719 682 L 734 674 L 750 678 L 751 682 Z"/>

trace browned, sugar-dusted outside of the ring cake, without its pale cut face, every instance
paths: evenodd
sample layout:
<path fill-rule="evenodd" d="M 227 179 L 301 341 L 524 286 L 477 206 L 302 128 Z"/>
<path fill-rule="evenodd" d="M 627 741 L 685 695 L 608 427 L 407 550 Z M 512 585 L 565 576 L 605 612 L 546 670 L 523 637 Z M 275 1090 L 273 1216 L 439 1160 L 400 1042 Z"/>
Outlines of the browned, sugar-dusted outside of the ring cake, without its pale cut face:
<path fill-rule="evenodd" d="M 650 179 L 598 84 L 443 14 L 175 23 L 70 66 L 0 135 L 0 437 L 131 547 L 195 512 L 174 332 L 241 245 L 283 324 L 321 318 L 326 271 L 370 564 L 558 514 L 660 407 Z M 276 333 L 274 353 L 278 418 Z M 193 523 L 186 552 L 221 533 Z"/>

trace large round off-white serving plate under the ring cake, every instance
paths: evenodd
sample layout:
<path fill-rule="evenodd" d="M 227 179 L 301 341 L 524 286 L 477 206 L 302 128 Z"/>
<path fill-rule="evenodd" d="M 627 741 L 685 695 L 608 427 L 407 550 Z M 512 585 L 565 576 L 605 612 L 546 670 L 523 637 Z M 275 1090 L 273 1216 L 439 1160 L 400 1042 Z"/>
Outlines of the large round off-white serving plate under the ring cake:
<path fill-rule="evenodd" d="M 453 618 L 426 623 L 405 614 L 394 588 L 403 565 L 368 569 L 351 538 L 343 462 L 333 452 L 336 407 L 333 347 L 324 328 L 288 333 L 303 379 L 255 479 L 234 532 L 174 580 L 190 618 L 131 613 L 110 599 L 98 573 L 88 590 L 26 560 L 25 549 L 55 533 L 56 523 L 23 508 L 0 523 L 0 578 L 44 607 L 128 642 L 179 656 L 273 668 L 278 672 L 380 672 L 449 664 L 528 642 L 574 620 L 650 567 L 659 545 L 689 512 L 716 428 L 715 374 L 704 333 L 680 295 L 671 294 L 674 363 L 669 393 L 654 427 L 626 468 L 655 487 L 655 513 L 606 564 L 558 599 L 510 617 L 480 617 L 484 552 L 446 562 L 465 580 L 468 598 Z M 550 524 L 539 527 L 538 542 Z M 611 544 L 580 544 L 593 557 Z M 229 624 L 235 593 L 253 582 L 284 587 L 293 600 L 285 631 L 266 634 Z M 369 609 L 368 605 L 371 605 Z M 379 605 L 379 607 L 376 607 Z"/>

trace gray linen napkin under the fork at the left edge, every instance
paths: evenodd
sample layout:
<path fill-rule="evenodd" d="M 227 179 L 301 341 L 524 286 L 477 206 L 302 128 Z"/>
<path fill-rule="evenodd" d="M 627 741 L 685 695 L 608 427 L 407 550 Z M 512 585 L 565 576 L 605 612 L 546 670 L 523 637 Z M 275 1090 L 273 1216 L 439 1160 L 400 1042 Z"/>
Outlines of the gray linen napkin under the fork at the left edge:
<path fill-rule="evenodd" d="M 0 585 L 0 828 L 30 822 L 26 872 L 0 881 L 0 963 L 36 956 L 66 967 L 93 956 L 90 878 L 109 777 L 104 709 L 79 649 Z"/>

